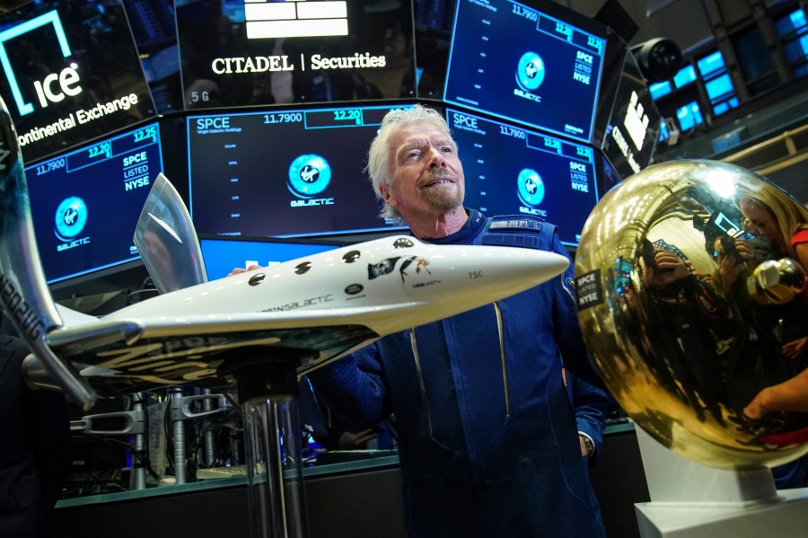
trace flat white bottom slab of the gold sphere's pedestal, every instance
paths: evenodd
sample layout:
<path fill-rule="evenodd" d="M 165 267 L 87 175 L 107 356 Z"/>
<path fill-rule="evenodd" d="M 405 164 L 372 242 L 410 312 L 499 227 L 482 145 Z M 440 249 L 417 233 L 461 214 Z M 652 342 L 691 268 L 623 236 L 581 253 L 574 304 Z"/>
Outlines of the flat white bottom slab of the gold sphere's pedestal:
<path fill-rule="evenodd" d="M 777 538 L 808 532 L 808 488 L 781 489 L 777 500 L 749 503 L 637 503 L 637 526 L 643 538 Z"/>

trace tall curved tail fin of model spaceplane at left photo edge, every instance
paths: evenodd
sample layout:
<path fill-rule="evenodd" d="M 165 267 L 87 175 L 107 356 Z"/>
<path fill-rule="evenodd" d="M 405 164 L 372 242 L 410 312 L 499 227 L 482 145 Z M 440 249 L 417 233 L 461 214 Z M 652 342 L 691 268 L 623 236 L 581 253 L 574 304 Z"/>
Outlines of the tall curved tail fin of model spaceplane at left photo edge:
<path fill-rule="evenodd" d="M 0 100 L 0 305 L 66 394 L 84 409 L 96 399 L 74 366 L 45 340 L 63 324 L 45 280 L 31 221 L 28 185 L 13 121 Z"/>

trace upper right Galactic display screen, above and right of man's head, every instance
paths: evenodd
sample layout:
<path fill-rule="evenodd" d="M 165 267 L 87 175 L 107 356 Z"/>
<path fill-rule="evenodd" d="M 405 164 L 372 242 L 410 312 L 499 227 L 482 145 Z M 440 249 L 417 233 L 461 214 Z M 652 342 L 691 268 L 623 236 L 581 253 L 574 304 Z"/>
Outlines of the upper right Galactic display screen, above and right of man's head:
<path fill-rule="evenodd" d="M 552 2 L 458 0 L 444 101 L 589 142 L 605 35 Z"/>

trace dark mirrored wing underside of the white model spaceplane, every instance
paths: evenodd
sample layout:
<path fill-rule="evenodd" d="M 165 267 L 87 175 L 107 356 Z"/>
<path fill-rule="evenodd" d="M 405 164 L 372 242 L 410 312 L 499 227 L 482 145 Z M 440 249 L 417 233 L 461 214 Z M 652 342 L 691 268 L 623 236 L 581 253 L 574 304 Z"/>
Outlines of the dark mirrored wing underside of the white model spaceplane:
<path fill-rule="evenodd" d="M 176 384 L 221 387 L 223 365 L 240 358 L 294 360 L 303 374 L 380 337 L 373 330 L 400 313 L 402 304 L 295 313 L 234 313 L 159 318 L 124 318 L 50 331 L 48 346 L 69 357 L 101 395 L 153 390 Z M 406 306 L 412 307 L 413 304 Z M 89 316 L 88 316 L 89 317 Z M 30 379 L 47 379 L 29 357 Z"/>

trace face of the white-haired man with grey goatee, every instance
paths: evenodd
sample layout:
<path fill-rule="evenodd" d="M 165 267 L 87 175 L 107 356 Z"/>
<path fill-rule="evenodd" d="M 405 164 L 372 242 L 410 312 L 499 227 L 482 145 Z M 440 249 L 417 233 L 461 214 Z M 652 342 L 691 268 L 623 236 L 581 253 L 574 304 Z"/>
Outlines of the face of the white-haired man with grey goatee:
<path fill-rule="evenodd" d="M 462 207 L 463 166 L 451 137 L 431 123 L 417 121 L 391 137 L 392 185 L 382 196 L 405 220 L 443 215 Z"/>

